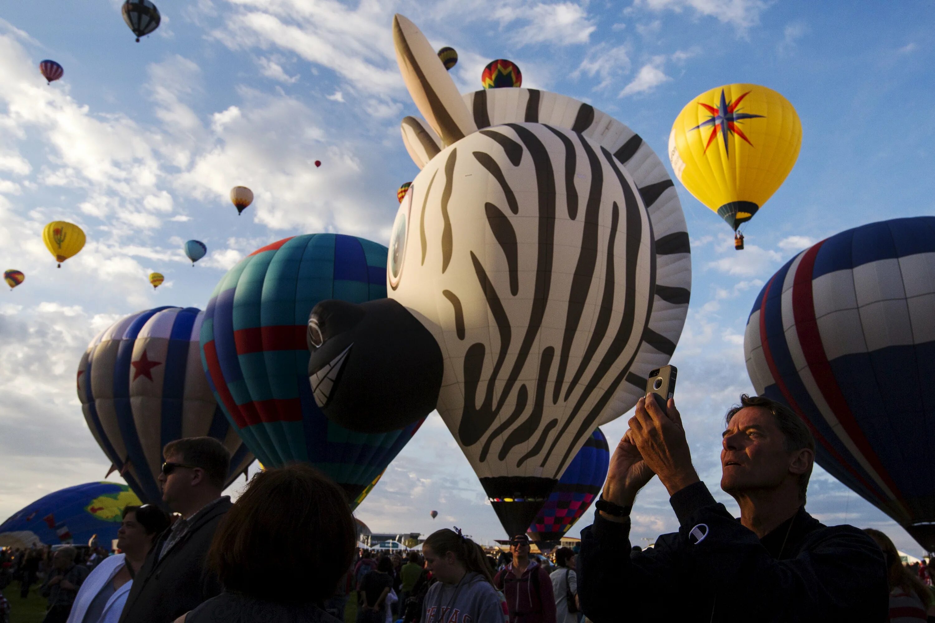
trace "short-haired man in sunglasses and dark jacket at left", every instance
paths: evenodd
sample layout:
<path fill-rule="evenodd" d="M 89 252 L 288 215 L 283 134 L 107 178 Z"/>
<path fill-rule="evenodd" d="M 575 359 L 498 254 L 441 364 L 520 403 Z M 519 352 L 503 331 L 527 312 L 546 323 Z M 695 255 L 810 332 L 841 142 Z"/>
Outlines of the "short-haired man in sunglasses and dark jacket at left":
<path fill-rule="evenodd" d="M 134 578 L 120 623 L 171 623 L 221 593 L 206 559 L 232 505 L 221 495 L 230 453 L 212 437 L 191 437 L 166 444 L 163 456 L 163 502 L 181 517 L 156 540 Z"/>

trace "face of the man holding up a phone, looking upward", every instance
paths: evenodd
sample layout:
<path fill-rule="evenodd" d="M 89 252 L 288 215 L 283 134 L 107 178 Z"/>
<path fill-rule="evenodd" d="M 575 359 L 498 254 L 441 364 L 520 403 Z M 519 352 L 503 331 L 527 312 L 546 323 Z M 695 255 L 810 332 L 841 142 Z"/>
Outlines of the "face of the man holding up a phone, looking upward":
<path fill-rule="evenodd" d="M 789 476 L 792 460 L 784 441 L 769 409 L 742 408 L 723 435 L 721 488 L 735 497 L 744 491 L 778 488 Z"/>

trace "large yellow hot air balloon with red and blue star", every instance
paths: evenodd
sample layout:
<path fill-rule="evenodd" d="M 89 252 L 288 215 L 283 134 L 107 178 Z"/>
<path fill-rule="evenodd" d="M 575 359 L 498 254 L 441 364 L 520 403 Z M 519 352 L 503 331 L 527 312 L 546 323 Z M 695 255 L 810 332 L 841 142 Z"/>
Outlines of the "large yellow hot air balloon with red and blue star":
<path fill-rule="evenodd" d="M 669 135 L 669 161 L 685 188 L 736 232 L 783 184 L 801 144 L 796 109 L 780 93 L 728 84 L 682 109 Z"/>

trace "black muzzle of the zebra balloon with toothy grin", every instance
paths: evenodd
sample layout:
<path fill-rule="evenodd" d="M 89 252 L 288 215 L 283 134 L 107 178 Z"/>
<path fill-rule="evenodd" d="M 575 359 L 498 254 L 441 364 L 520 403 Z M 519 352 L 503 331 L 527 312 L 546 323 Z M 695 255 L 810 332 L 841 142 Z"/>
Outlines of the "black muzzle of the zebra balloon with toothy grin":
<path fill-rule="evenodd" d="M 308 341 L 315 402 L 336 424 L 390 432 L 435 409 L 441 349 L 396 301 L 323 301 L 309 315 Z"/>

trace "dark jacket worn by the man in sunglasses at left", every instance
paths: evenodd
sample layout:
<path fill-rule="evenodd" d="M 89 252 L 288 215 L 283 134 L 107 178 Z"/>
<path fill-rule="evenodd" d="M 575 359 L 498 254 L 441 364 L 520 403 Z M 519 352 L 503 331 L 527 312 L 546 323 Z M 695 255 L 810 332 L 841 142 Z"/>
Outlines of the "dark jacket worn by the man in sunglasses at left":
<path fill-rule="evenodd" d="M 232 505 L 229 498 L 223 499 L 194 517 L 188 531 L 161 560 L 157 554 L 171 529 L 160 534 L 133 580 L 120 623 L 171 623 L 221 594 L 217 575 L 206 571 L 206 559 L 214 531 Z"/>

